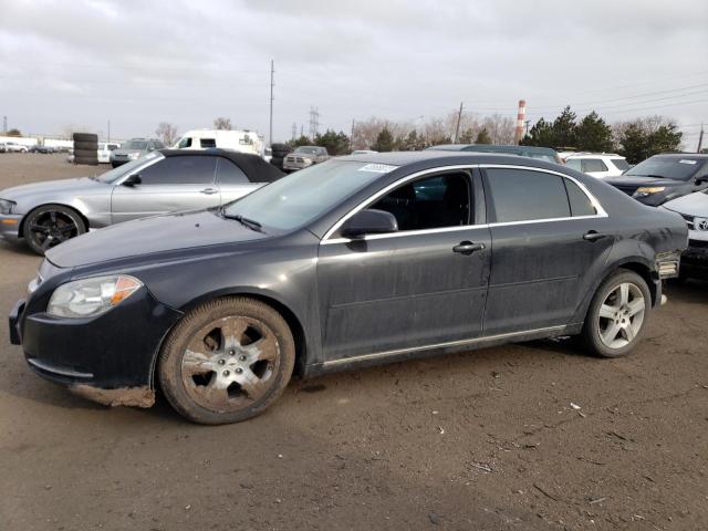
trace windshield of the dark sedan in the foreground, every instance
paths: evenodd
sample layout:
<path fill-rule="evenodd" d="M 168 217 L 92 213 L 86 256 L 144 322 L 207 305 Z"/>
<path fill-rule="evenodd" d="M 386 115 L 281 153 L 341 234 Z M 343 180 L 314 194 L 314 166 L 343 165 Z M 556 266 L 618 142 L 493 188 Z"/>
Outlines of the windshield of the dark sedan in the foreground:
<path fill-rule="evenodd" d="M 225 208 L 263 227 L 292 230 L 312 221 L 395 166 L 329 160 L 291 174 Z"/>

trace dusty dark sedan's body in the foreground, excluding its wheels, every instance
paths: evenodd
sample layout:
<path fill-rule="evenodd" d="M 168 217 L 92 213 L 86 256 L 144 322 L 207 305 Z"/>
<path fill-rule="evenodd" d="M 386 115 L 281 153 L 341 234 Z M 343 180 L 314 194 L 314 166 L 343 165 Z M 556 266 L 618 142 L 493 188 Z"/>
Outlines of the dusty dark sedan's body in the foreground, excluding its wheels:
<path fill-rule="evenodd" d="M 510 200 L 529 202 L 518 181 L 539 176 L 568 180 L 587 211 L 564 195 L 532 219 L 494 204 L 490 191 L 507 181 Z M 396 230 L 346 236 L 348 220 L 372 208 L 394 216 Z M 45 378 L 147 406 L 165 337 L 205 301 L 239 295 L 275 309 L 295 339 L 296 371 L 312 376 L 576 334 L 617 268 L 641 274 L 656 305 L 662 263 L 686 240 L 678 215 L 555 164 L 440 152 L 341 157 L 226 210 L 129 221 L 50 250 L 10 315 L 11 340 Z M 112 275 L 138 288 L 105 313 L 48 311 L 62 285 Z"/>

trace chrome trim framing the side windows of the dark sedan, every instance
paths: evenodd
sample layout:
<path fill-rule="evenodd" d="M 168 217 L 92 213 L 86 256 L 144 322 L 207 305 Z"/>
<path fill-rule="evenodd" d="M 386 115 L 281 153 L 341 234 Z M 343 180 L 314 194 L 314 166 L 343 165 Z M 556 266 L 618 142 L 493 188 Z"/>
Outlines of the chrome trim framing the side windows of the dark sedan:
<path fill-rule="evenodd" d="M 342 225 L 344 225 L 344 222 L 346 222 L 346 220 L 350 219 L 352 216 L 354 216 L 356 212 L 363 210 L 364 208 L 369 206 L 372 202 L 374 202 L 376 199 L 378 199 L 379 197 L 384 196 L 385 194 L 387 194 L 392 189 L 394 189 L 394 188 L 396 188 L 396 187 L 398 187 L 398 186 L 400 186 L 400 185 L 403 185 L 403 184 L 405 184 L 405 183 L 407 183 L 409 180 L 417 179 L 418 177 L 423 177 L 423 176 L 428 175 L 428 174 L 436 174 L 436 173 L 440 173 L 440 171 L 449 171 L 449 170 L 455 170 L 455 169 L 475 169 L 475 168 L 479 168 L 479 169 L 485 169 L 485 168 L 524 169 L 524 170 L 540 171 L 540 173 L 556 175 L 559 177 L 562 177 L 562 178 L 565 178 L 565 179 L 570 179 L 575 185 L 577 185 L 577 187 L 583 191 L 583 194 L 585 194 L 585 196 L 587 196 L 587 199 L 590 199 L 591 205 L 595 208 L 595 211 L 597 214 L 587 215 L 587 216 L 568 216 L 568 217 L 562 217 L 562 218 L 524 219 L 524 220 L 519 220 L 519 221 L 500 221 L 500 222 L 493 222 L 493 223 L 462 225 L 462 226 L 459 226 L 459 227 L 438 227 L 438 228 L 435 228 L 435 229 L 403 230 L 403 231 L 399 231 L 399 232 L 391 232 L 391 233 L 385 233 L 385 235 L 368 235 L 368 236 L 365 236 L 364 238 L 358 239 L 357 241 L 383 240 L 383 239 L 386 239 L 386 238 L 402 238 L 402 237 L 405 237 L 405 236 L 434 235 L 434 233 L 437 233 L 437 232 L 455 232 L 455 231 L 459 231 L 459 230 L 485 229 L 485 228 L 491 228 L 491 227 L 509 227 L 509 226 L 513 226 L 513 225 L 545 223 L 545 222 L 554 222 L 554 221 L 570 221 L 570 220 L 574 220 L 574 219 L 595 219 L 595 218 L 606 218 L 607 217 L 607 212 L 602 207 L 602 205 L 600 204 L 597 198 L 585 187 L 585 185 L 583 185 L 583 183 L 581 183 L 580 180 L 577 180 L 576 178 L 574 178 L 574 177 L 572 177 L 570 175 L 563 174 L 563 173 L 560 173 L 560 171 L 554 171 L 552 169 L 534 168 L 534 167 L 530 167 L 530 166 L 519 166 L 519 165 L 511 165 L 511 164 L 475 164 L 475 165 L 462 164 L 462 165 L 440 166 L 438 168 L 424 169 L 421 171 L 417 171 L 415 174 L 410 174 L 410 175 L 408 175 L 406 177 L 403 177 L 403 178 L 398 179 L 397 181 L 395 181 L 395 183 L 388 185 L 387 187 L 383 188 L 382 190 L 378 190 L 376 194 L 374 194 L 368 199 L 362 201 L 360 205 L 357 205 L 352 210 L 350 210 L 346 215 L 344 215 L 336 223 L 334 223 L 332 226 L 332 228 L 330 228 L 330 230 L 327 230 L 325 232 L 325 235 L 322 238 L 322 241 L 320 242 L 320 244 L 329 246 L 329 244 L 334 244 L 334 243 L 350 243 L 350 242 L 354 241 L 351 238 L 331 238 L 331 236 L 334 232 L 336 232 L 337 230 L 340 230 Z"/>

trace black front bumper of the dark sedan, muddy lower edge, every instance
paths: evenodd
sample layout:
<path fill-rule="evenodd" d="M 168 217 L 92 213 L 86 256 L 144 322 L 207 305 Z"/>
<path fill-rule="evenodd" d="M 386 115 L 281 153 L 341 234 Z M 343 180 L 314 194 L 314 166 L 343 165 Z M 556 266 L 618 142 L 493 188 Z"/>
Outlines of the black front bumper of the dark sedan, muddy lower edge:
<path fill-rule="evenodd" d="M 10 340 L 22 344 L 30 368 L 112 405 L 140 405 L 114 396 L 126 389 L 152 393 L 159 346 L 181 315 L 145 288 L 97 317 L 56 317 L 33 305 L 20 301 L 9 317 Z"/>

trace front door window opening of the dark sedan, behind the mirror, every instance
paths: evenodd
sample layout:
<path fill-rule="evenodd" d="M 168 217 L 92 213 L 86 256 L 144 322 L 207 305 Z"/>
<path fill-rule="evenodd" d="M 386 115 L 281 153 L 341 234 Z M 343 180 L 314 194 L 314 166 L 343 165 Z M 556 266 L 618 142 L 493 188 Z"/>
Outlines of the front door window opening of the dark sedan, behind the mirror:
<path fill-rule="evenodd" d="M 469 225 L 470 186 L 466 173 L 426 177 L 389 191 L 368 208 L 391 212 L 398 230 Z"/>

